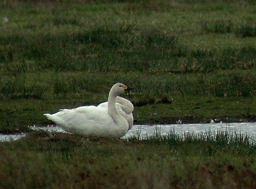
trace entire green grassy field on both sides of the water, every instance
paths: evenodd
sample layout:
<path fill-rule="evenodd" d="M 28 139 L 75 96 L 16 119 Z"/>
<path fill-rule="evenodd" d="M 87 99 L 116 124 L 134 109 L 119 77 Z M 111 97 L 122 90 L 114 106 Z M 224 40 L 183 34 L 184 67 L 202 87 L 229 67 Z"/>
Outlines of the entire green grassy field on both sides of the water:
<path fill-rule="evenodd" d="M 256 2 L 0 1 L 0 132 L 133 88 L 135 123 L 256 120 Z M 170 132 L 0 143 L 0 188 L 255 188 L 255 138 Z"/>

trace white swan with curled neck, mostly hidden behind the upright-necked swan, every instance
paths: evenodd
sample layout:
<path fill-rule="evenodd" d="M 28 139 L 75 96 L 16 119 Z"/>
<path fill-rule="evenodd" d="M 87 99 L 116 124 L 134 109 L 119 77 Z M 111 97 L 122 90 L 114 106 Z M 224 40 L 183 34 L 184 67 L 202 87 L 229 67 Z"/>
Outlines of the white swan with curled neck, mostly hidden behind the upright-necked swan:
<path fill-rule="evenodd" d="M 104 102 L 98 105 L 98 107 L 106 108 L 108 109 L 108 102 Z M 133 110 L 134 106 L 133 104 L 122 97 L 116 97 L 116 109 L 120 113 L 121 116 L 123 116 L 128 124 L 129 124 L 129 130 L 133 127 Z"/>

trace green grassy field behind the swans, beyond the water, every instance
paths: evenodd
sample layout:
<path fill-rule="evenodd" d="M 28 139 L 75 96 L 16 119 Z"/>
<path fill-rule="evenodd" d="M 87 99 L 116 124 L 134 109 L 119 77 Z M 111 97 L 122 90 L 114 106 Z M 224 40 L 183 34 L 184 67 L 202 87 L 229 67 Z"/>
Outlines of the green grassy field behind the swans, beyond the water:
<path fill-rule="evenodd" d="M 3 1 L 0 130 L 135 88 L 135 122 L 255 121 L 255 2 Z M 163 112 L 164 111 L 164 112 Z"/>

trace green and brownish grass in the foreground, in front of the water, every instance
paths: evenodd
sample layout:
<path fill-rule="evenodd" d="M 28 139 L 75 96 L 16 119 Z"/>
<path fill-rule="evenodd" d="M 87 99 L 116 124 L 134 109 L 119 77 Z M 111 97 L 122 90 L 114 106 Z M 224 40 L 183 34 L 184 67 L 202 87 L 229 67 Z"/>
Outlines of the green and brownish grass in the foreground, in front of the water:
<path fill-rule="evenodd" d="M 0 144 L 0 186 L 255 187 L 255 141 L 230 131 L 184 136 L 123 140 L 32 132 Z"/>

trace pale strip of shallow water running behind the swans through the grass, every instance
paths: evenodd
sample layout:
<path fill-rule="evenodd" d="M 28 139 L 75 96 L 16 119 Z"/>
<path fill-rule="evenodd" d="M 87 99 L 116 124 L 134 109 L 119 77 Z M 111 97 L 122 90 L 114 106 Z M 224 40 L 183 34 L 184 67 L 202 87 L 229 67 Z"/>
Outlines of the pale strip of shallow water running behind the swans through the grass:
<path fill-rule="evenodd" d="M 33 130 L 48 130 L 51 132 L 65 132 L 60 127 L 57 126 L 46 126 L 46 127 L 37 127 L 30 126 L 30 129 Z M 177 134 L 183 135 L 183 133 L 200 133 L 207 132 L 214 133 L 216 131 L 225 131 L 236 132 L 241 134 L 247 134 L 249 136 L 256 136 L 256 123 L 207 123 L 207 124 L 169 124 L 169 125 L 134 125 L 133 128 L 128 131 L 125 136 L 122 138 L 129 137 L 147 137 L 157 134 L 168 134 L 170 131 L 174 131 Z M 24 137 L 23 134 L 12 134 L 12 135 L 3 135 L 0 134 L 0 141 L 11 141 L 17 140 L 21 137 Z"/>

